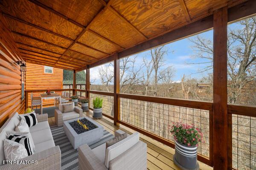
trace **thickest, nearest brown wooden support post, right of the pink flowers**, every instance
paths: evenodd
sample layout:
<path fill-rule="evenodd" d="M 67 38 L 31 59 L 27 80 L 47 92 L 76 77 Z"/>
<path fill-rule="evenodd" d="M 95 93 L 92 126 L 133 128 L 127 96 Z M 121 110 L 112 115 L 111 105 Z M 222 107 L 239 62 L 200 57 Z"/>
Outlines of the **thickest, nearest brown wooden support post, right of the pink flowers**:
<path fill-rule="evenodd" d="M 213 14 L 213 168 L 227 170 L 227 6 Z"/>

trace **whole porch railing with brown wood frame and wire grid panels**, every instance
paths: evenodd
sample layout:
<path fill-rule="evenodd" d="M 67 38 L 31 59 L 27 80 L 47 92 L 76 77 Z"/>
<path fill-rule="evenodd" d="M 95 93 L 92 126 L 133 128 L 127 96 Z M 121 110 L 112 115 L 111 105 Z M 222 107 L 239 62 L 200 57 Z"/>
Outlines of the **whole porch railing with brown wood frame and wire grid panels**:
<path fill-rule="evenodd" d="M 26 91 L 43 92 L 46 90 Z M 114 120 L 114 93 L 84 89 L 52 89 L 74 91 L 89 97 L 90 109 L 96 96 L 103 99 L 103 115 Z M 212 102 L 170 99 L 133 94 L 116 94 L 117 122 L 170 147 L 175 147 L 169 132 L 172 122 L 194 124 L 204 133 L 205 143 L 198 144 L 198 160 L 212 166 Z M 26 102 L 27 103 L 27 102 Z M 228 105 L 229 169 L 256 169 L 256 106 Z"/>

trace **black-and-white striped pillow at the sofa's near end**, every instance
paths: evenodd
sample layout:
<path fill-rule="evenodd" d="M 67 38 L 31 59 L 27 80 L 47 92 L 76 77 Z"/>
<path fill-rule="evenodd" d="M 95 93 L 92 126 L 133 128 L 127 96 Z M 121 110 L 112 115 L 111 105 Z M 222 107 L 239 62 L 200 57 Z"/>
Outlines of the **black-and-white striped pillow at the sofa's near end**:
<path fill-rule="evenodd" d="M 7 134 L 7 139 L 22 144 L 26 148 L 28 152 L 28 156 L 34 154 L 34 151 L 32 149 L 31 142 L 29 141 L 28 136 Z"/>

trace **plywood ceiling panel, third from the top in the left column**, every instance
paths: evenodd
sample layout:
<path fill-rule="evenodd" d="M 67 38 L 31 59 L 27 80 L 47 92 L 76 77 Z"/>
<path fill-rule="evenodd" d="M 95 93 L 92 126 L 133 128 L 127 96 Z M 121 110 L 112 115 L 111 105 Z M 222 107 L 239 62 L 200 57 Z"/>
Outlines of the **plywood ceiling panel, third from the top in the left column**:
<path fill-rule="evenodd" d="M 11 31 L 15 31 L 29 37 L 43 40 L 44 42 L 49 42 L 51 44 L 55 44 L 64 48 L 67 48 L 72 43 L 72 41 L 70 40 L 58 37 L 55 34 L 51 34 L 41 29 L 29 26 L 25 23 L 21 23 L 20 21 L 14 20 L 12 18 L 7 18 L 7 23 Z"/>

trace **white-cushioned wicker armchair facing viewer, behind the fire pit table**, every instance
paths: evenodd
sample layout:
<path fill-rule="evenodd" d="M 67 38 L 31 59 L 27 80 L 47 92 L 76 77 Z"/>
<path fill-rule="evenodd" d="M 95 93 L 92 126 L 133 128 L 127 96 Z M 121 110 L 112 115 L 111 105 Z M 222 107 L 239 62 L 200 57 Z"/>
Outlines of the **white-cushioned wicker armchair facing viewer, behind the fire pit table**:
<path fill-rule="evenodd" d="M 64 105 L 73 105 L 73 110 L 64 113 Z M 75 107 L 74 102 L 72 103 L 61 103 L 59 108 L 55 109 L 55 123 L 57 126 L 62 126 L 63 121 L 75 119 L 83 116 L 83 110 L 78 106 Z"/>

